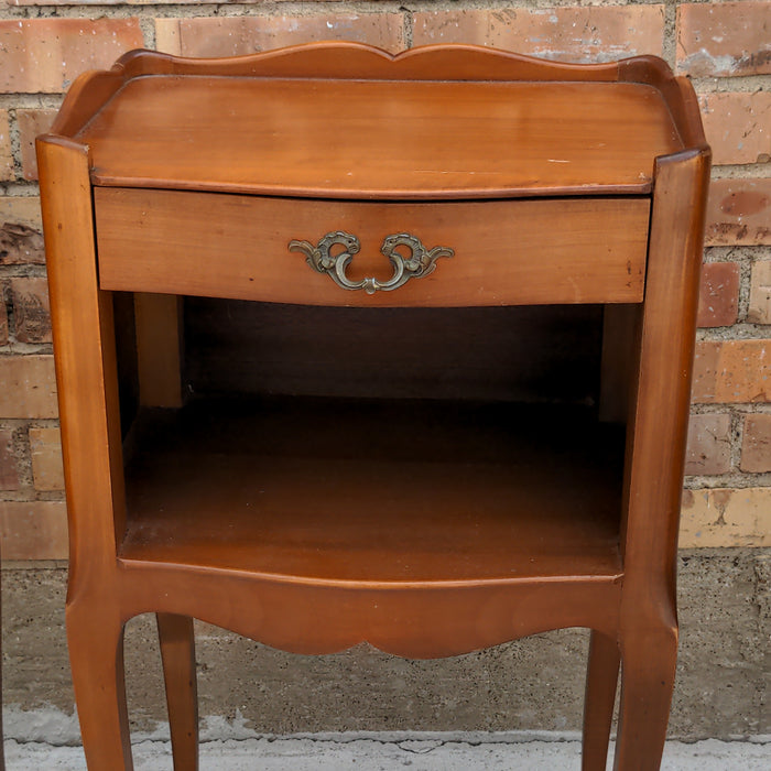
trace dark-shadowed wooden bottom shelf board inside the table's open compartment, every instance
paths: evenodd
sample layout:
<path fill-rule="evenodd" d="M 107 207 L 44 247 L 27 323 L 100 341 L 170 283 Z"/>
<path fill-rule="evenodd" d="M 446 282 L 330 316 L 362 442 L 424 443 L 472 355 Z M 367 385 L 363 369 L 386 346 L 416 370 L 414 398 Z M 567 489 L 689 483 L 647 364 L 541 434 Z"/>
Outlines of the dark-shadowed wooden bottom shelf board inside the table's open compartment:
<path fill-rule="evenodd" d="M 124 561 L 376 585 L 621 573 L 623 428 L 585 406 L 198 399 L 143 410 L 127 458 Z"/>

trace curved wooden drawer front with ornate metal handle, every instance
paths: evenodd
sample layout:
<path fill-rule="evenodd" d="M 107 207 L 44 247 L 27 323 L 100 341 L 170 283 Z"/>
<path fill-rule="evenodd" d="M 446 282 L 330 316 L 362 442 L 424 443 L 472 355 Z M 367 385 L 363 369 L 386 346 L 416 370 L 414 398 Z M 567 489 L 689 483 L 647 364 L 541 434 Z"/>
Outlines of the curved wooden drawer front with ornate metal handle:
<path fill-rule="evenodd" d="M 428 307 L 643 295 L 645 198 L 406 204 L 97 187 L 95 207 L 105 290 Z M 345 265 L 311 264 L 346 250 Z"/>

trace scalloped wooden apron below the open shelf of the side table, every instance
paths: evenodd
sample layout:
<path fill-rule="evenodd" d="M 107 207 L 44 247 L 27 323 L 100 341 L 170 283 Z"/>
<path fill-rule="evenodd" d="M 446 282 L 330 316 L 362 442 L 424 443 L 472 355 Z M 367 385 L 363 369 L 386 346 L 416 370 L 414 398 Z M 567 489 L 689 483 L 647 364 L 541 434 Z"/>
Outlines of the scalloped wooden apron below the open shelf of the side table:
<path fill-rule="evenodd" d="M 437 659 L 562 627 L 613 633 L 621 594 L 620 582 L 605 577 L 349 590 L 132 560 L 120 562 L 119 576 L 128 618 L 167 609 L 306 655 L 367 641 L 394 655 Z"/>

